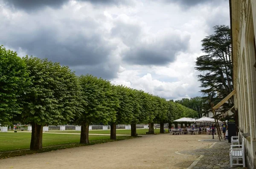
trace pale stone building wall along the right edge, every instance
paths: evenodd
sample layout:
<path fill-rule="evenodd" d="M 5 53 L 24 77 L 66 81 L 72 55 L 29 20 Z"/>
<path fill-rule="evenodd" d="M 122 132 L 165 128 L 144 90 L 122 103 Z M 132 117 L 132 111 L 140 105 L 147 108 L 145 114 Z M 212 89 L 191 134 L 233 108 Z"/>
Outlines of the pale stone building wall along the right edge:
<path fill-rule="evenodd" d="M 256 168 L 256 0 L 230 0 L 235 108 L 248 168 Z"/>

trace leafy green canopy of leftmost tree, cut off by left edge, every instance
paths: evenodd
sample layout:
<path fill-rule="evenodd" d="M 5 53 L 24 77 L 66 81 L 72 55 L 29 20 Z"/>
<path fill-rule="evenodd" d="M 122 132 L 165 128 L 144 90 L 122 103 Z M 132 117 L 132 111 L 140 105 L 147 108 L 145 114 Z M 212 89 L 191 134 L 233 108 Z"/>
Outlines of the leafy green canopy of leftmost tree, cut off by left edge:
<path fill-rule="evenodd" d="M 22 109 L 21 95 L 29 85 L 29 74 L 26 63 L 16 52 L 0 46 L 0 123 L 8 124 L 9 120 L 20 114 Z"/>

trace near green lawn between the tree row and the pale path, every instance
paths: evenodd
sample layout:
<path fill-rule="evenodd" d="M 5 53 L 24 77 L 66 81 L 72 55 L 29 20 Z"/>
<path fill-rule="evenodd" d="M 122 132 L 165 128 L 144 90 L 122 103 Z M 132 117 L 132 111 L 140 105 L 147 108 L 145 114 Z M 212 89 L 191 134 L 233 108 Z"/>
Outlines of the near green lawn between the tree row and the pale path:
<path fill-rule="evenodd" d="M 108 140 L 110 136 L 90 135 L 89 140 Z M 122 137 L 122 136 L 117 136 Z M 31 133 L 1 133 L 0 132 L 0 152 L 29 149 Z M 55 146 L 70 143 L 79 143 L 80 135 L 65 135 L 65 134 L 43 134 L 43 147 Z"/>

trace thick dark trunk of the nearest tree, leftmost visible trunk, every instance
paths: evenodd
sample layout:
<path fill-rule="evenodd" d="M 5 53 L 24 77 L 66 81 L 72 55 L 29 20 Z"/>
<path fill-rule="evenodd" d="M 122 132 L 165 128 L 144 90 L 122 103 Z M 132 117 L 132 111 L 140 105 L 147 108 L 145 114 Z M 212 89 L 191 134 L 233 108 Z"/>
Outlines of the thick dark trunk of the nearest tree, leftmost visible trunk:
<path fill-rule="evenodd" d="M 43 147 L 43 126 L 36 123 L 32 123 L 31 126 L 30 150 L 41 150 Z"/>

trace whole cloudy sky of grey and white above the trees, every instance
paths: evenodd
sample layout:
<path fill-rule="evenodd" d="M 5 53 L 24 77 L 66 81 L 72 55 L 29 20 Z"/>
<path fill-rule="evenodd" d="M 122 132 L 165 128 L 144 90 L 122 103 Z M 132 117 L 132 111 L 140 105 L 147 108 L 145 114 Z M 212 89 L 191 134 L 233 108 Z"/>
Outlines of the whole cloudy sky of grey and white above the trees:
<path fill-rule="evenodd" d="M 200 96 L 194 70 L 228 0 L 0 0 L 0 45 L 166 99 Z"/>

